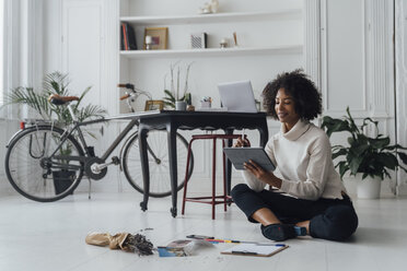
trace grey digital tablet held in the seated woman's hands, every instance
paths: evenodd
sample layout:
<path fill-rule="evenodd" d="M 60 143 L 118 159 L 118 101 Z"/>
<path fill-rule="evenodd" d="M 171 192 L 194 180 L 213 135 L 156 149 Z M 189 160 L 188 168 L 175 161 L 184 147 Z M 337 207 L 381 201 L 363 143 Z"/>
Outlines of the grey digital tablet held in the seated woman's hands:
<path fill-rule="evenodd" d="M 244 170 L 243 164 L 249 160 L 253 160 L 265 170 L 274 172 L 276 169 L 276 166 L 263 148 L 224 148 L 223 152 L 237 170 Z"/>

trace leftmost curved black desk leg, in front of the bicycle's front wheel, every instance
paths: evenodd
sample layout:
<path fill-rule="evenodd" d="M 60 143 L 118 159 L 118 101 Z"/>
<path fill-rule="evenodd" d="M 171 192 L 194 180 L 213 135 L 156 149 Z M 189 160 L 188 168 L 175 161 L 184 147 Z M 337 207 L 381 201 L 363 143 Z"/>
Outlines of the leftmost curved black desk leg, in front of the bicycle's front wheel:
<path fill-rule="evenodd" d="M 139 126 L 139 150 L 140 150 L 140 162 L 143 179 L 143 200 L 140 202 L 142 211 L 147 210 L 147 203 L 149 202 L 150 195 L 150 169 L 149 169 L 149 154 L 147 152 L 147 133 L 148 129 L 144 129 L 140 123 Z"/>

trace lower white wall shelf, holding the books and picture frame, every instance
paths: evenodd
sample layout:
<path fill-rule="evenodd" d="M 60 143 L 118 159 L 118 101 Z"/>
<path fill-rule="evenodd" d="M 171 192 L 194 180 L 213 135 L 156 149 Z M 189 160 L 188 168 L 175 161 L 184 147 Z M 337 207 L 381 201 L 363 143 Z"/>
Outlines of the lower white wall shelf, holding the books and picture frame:
<path fill-rule="evenodd" d="M 187 58 L 187 57 L 217 57 L 217 56 L 255 56 L 255 55 L 284 55 L 302 54 L 302 45 L 253 47 L 253 48 L 208 48 L 183 50 L 123 50 L 120 56 L 130 59 L 141 58 Z"/>

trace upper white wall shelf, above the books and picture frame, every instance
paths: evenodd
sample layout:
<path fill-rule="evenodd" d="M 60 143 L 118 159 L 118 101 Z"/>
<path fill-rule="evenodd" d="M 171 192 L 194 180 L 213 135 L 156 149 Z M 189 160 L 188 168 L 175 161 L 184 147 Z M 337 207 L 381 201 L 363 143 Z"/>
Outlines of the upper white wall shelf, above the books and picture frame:
<path fill-rule="evenodd" d="M 139 25 L 174 25 L 174 24 L 199 24 L 199 23 L 228 23 L 265 20 L 301 20 L 302 10 L 281 10 L 275 12 L 235 12 L 235 13 L 210 13 L 198 15 L 177 16 L 123 16 L 121 22 Z"/>

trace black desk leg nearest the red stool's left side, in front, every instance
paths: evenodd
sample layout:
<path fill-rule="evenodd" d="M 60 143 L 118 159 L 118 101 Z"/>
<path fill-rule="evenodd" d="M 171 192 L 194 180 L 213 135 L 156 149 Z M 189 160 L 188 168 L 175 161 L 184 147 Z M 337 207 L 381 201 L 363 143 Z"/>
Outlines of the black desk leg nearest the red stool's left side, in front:
<path fill-rule="evenodd" d="M 176 156 L 176 128 L 167 126 L 167 142 L 168 142 L 168 157 L 170 157 L 170 177 L 171 177 L 171 196 L 173 207 L 171 208 L 171 214 L 173 217 L 176 216 L 176 203 L 177 203 L 177 186 L 178 186 L 178 173 L 177 173 L 177 156 Z"/>

